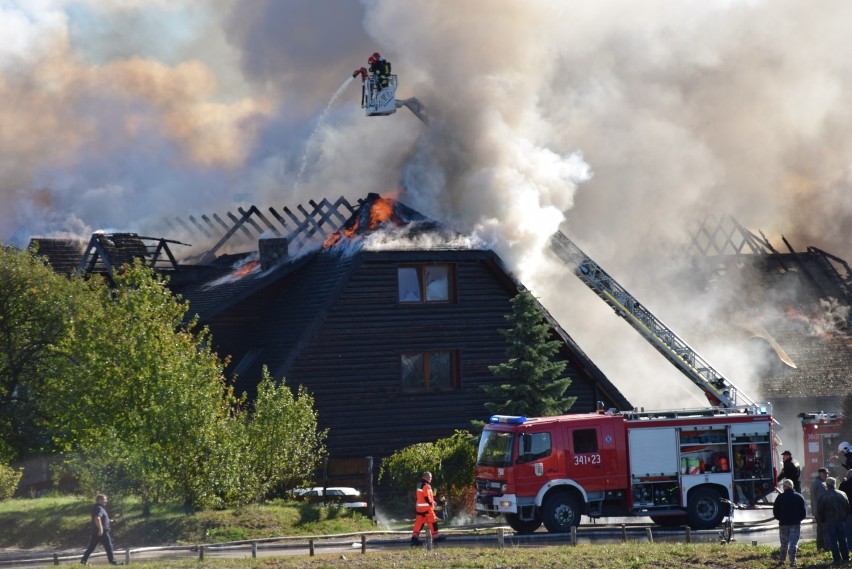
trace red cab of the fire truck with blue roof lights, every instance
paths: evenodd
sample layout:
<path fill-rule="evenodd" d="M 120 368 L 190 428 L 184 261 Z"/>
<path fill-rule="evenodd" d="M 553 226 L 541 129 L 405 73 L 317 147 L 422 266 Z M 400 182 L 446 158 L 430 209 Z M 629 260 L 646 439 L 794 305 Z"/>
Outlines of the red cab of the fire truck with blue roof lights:
<path fill-rule="evenodd" d="M 628 487 L 624 419 L 567 415 L 494 416 L 477 456 L 477 508 L 502 513 L 521 533 L 544 523 L 567 531 L 580 516 L 602 515 Z"/>

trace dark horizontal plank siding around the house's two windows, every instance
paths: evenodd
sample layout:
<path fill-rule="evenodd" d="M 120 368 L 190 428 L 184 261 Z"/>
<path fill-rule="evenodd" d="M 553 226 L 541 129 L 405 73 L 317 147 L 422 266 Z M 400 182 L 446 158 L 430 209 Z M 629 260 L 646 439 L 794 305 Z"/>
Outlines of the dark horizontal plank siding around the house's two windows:
<path fill-rule="evenodd" d="M 286 370 L 288 383 L 316 396 L 334 456 L 386 456 L 404 446 L 449 436 L 487 416 L 483 385 L 489 365 L 505 359 L 504 316 L 516 291 L 495 278 L 488 261 L 457 261 L 457 302 L 397 302 L 397 267 L 410 260 L 365 260 L 350 276 L 310 343 Z M 436 261 L 443 263 L 443 261 Z M 455 350 L 458 391 L 405 392 L 400 355 Z M 576 370 L 574 370 L 576 371 Z M 594 385 L 577 376 L 575 410 L 595 408 Z"/>

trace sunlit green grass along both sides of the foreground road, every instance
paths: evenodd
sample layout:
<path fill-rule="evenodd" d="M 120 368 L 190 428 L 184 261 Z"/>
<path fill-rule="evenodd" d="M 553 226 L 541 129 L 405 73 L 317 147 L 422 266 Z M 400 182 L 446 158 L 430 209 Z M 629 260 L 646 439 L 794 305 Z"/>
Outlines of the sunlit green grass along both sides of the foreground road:
<path fill-rule="evenodd" d="M 79 550 L 88 541 L 88 514 L 91 499 L 57 496 L 15 499 L 0 502 L 0 548 L 36 550 Z M 116 545 L 144 547 L 168 544 L 220 543 L 294 535 L 350 533 L 376 529 L 373 522 L 357 512 L 323 508 L 311 504 L 273 502 L 262 506 L 233 510 L 205 511 L 187 515 L 182 508 L 159 505 L 149 517 L 142 516 L 142 505 L 133 499 L 116 504 L 110 513 L 116 518 Z M 408 523 L 402 525 L 407 527 Z M 402 525 L 397 529 L 401 529 Z M 101 549 L 99 548 L 99 551 Z M 320 550 L 321 551 L 321 550 Z M 281 557 L 222 558 L 211 553 L 203 562 L 197 558 L 181 560 L 133 560 L 137 569 L 319 569 L 361 567 L 375 569 L 768 569 L 777 566 L 777 547 L 629 542 L 542 547 L 493 545 L 454 547 L 452 540 L 433 551 L 419 549 L 358 550 L 315 557 L 307 554 Z M 800 544 L 799 566 L 821 568 L 831 565 L 831 555 L 816 551 L 812 541 Z"/>

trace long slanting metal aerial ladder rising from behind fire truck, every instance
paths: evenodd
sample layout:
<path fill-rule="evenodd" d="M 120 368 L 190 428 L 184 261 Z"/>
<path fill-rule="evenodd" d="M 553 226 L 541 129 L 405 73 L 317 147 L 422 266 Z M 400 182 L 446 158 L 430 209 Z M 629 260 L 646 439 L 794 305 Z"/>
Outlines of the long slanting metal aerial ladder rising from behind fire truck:
<path fill-rule="evenodd" d="M 550 247 L 616 314 L 627 320 L 669 362 L 701 388 L 711 405 L 759 410 L 757 403 L 698 355 L 564 233 L 554 233 Z"/>

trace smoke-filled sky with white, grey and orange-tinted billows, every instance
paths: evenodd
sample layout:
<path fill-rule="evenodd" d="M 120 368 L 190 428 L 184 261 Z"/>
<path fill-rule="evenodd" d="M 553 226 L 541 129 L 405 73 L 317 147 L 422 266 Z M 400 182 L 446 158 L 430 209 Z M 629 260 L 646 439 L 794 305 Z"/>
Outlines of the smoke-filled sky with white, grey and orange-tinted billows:
<path fill-rule="evenodd" d="M 0 239 L 399 192 L 493 246 L 631 401 L 700 402 L 547 239 L 688 333 L 712 307 L 667 281 L 697 219 L 852 258 L 849 21 L 840 0 L 0 0 Z M 374 51 L 428 128 L 364 115 Z M 700 351 L 736 375 L 729 345 Z"/>

